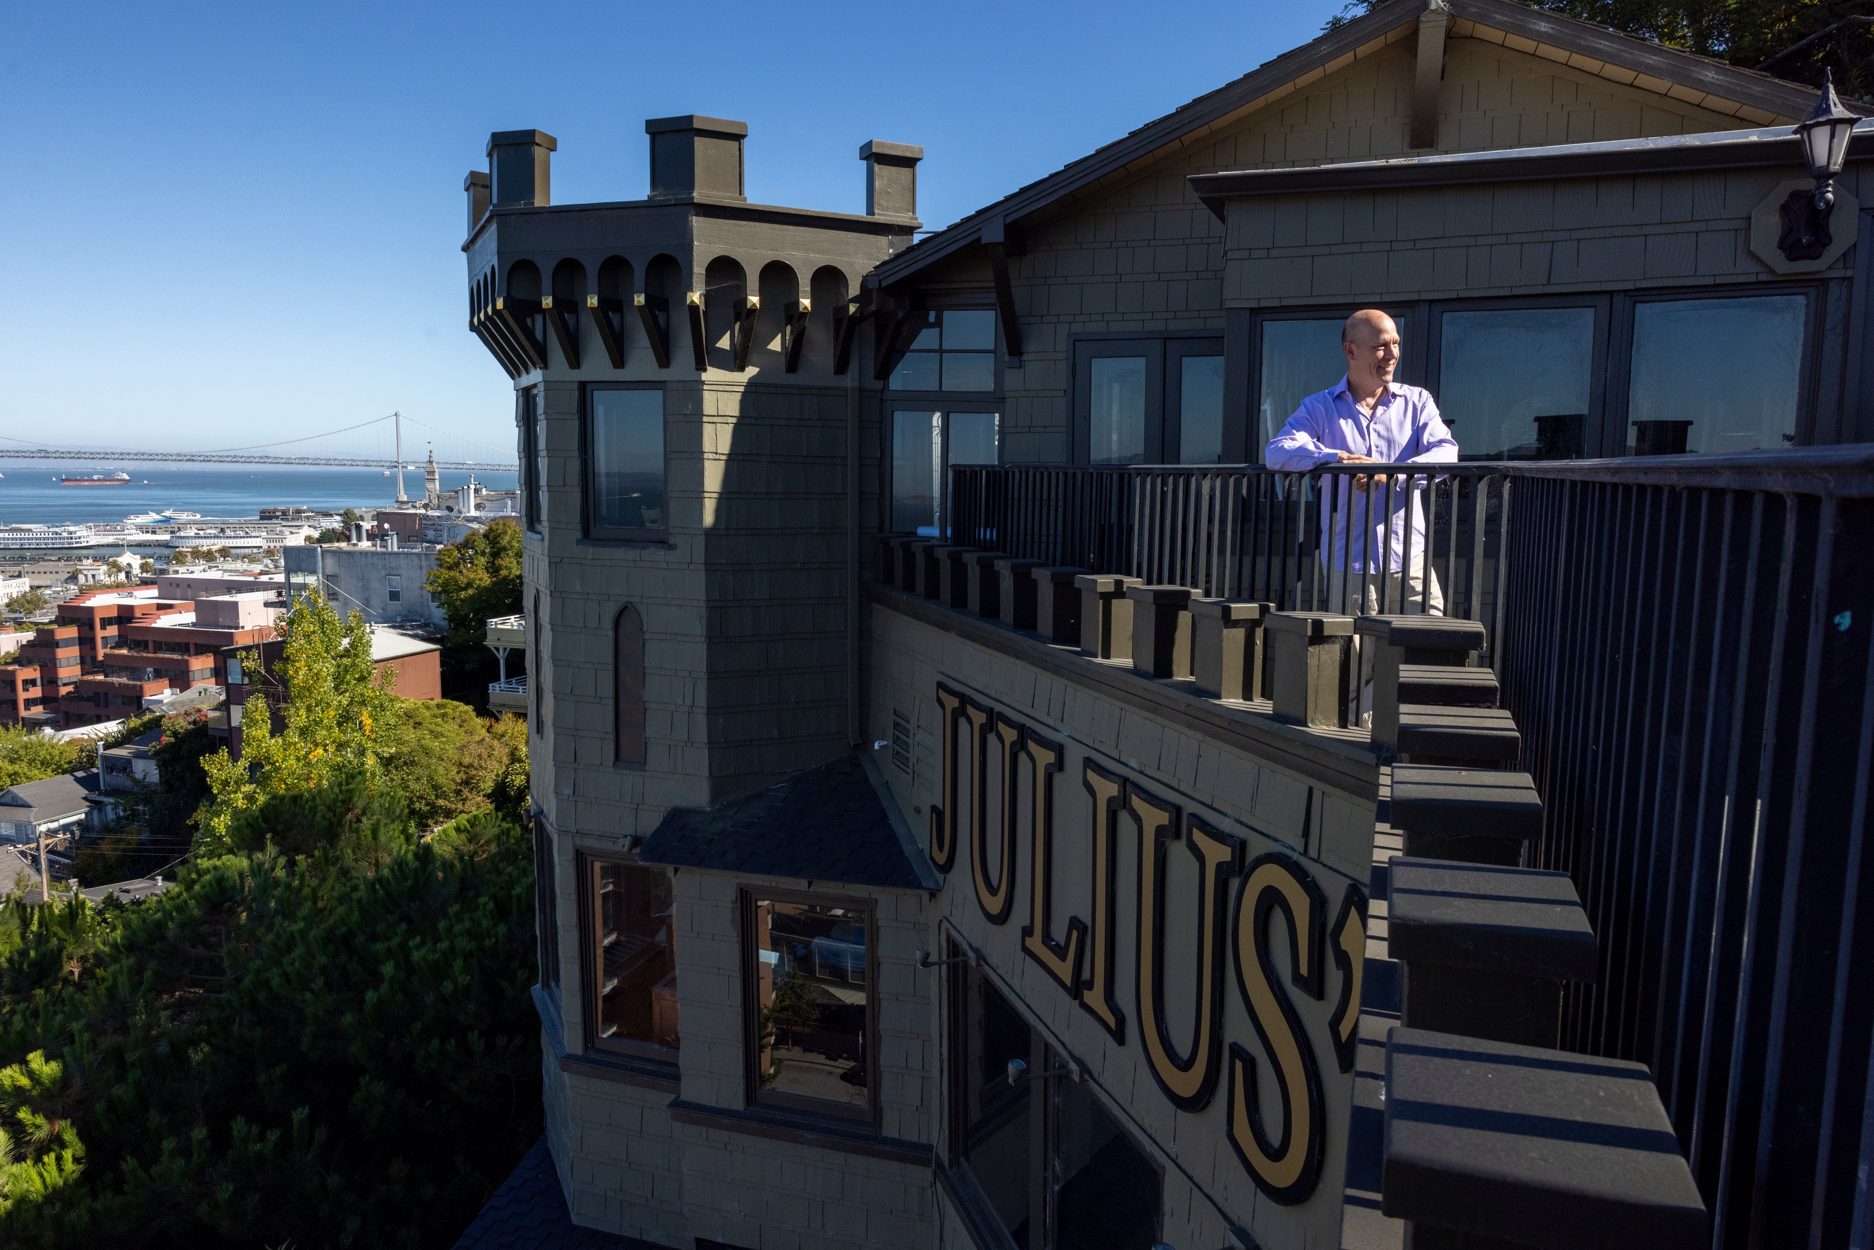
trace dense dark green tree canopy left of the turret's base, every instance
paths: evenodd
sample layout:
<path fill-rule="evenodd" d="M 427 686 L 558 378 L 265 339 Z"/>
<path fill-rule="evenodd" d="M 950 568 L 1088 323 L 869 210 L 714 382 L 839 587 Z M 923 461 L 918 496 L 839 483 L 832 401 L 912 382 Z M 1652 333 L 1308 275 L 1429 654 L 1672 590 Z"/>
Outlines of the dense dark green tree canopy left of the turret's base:
<path fill-rule="evenodd" d="M 448 1246 L 540 1134 L 532 862 L 364 772 L 167 894 L 0 903 L 0 1244 Z"/>

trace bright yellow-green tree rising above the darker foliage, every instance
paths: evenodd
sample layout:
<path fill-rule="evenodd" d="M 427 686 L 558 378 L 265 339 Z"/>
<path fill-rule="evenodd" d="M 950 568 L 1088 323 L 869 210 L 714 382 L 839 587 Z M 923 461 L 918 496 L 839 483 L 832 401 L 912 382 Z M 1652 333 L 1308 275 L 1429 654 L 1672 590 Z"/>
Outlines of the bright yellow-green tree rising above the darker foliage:
<path fill-rule="evenodd" d="M 287 639 L 274 669 L 283 692 L 281 727 L 272 729 L 266 693 L 251 686 L 242 710 L 242 757 L 227 748 L 202 761 L 210 800 L 197 815 L 210 847 L 223 847 L 236 815 L 272 795 L 317 789 L 337 772 L 379 770 L 379 735 L 395 714 L 394 669 L 371 663 L 371 628 L 362 613 L 339 620 L 313 590 L 279 622 Z M 259 667 L 249 652 L 245 663 Z"/>

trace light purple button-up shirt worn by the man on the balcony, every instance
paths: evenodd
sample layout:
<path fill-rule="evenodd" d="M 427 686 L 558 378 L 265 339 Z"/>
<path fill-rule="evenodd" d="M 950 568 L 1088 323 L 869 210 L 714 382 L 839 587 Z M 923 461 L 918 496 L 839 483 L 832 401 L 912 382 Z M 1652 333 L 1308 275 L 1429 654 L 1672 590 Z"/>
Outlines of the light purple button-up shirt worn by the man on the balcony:
<path fill-rule="evenodd" d="M 1419 386 L 1392 382 L 1374 403 L 1374 414 L 1361 412 L 1361 405 L 1347 394 L 1347 379 L 1336 386 L 1308 395 L 1295 409 L 1295 414 L 1276 431 L 1263 452 L 1263 461 L 1271 469 L 1284 472 L 1302 472 L 1319 465 L 1332 465 L 1338 452 L 1357 452 L 1372 455 L 1376 461 L 1439 463 L 1449 465 L 1458 459 L 1458 440 L 1437 416 L 1437 403 Z M 1336 474 L 1338 476 L 1338 474 Z M 1424 555 L 1424 510 L 1419 495 L 1432 484 L 1432 478 L 1413 478 L 1411 489 L 1404 482 L 1392 484 L 1392 542 L 1391 572 L 1406 568 L 1409 558 L 1417 564 Z M 1411 504 L 1411 519 L 1406 508 Z M 1332 532 L 1323 508 L 1321 545 L 1334 553 L 1336 570 L 1379 572 L 1377 557 L 1368 560 L 1368 551 L 1387 547 L 1387 487 L 1368 484 L 1366 491 L 1351 489 L 1351 476 L 1340 476 L 1332 499 Z M 1347 515 L 1353 515 L 1355 532 L 1347 536 Z M 1409 538 L 1407 538 L 1409 536 Z M 1409 542 L 1409 547 L 1407 547 Z"/>

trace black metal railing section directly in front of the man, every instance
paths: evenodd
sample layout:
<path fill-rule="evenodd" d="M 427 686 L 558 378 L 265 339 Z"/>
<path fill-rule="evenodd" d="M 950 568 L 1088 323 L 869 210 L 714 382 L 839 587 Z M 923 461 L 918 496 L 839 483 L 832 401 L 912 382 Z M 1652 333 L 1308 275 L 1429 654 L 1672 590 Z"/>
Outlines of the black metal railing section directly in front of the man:
<path fill-rule="evenodd" d="M 963 547 L 1278 611 L 1434 611 L 1501 624 L 1503 465 L 980 465 L 950 474 L 952 542 Z"/>

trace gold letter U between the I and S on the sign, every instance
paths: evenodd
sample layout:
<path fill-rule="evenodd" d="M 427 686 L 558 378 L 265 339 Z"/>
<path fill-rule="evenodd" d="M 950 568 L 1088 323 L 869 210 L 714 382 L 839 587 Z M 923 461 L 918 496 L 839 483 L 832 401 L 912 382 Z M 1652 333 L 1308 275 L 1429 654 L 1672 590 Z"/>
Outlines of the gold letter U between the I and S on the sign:
<path fill-rule="evenodd" d="M 1166 849 L 1179 841 L 1179 810 L 1126 785 L 1126 804 L 1139 817 L 1139 1046 L 1153 1079 L 1171 1106 L 1201 1111 L 1216 1091 L 1224 1048 L 1224 915 L 1229 877 L 1242 868 L 1242 841 L 1188 817 L 1184 845 L 1197 860 L 1197 1021 L 1190 1055 L 1179 1059 L 1166 1029 Z M 1179 900 L 1186 903 L 1186 900 Z M 1190 976 L 1179 960 L 1177 976 Z"/>

